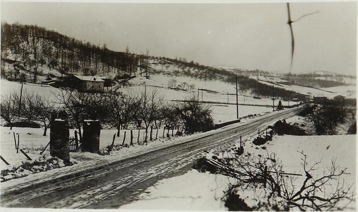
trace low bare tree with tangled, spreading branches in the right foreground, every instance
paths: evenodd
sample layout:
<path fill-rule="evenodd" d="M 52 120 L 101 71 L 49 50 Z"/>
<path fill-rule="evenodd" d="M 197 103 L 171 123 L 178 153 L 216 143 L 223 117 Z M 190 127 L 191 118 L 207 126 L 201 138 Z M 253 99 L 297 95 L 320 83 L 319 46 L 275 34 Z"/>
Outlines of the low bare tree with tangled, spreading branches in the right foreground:
<path fill-rule="evenodd" d="M 236 155 L 231 162 L 212 158 L 208 162 L 215 166 L 219 173 L 237 180 L 236 184 L 231 186 L 230 192 L 247 188 L 259 189 L 259 192 L 264 192 L 269 202 L 275 202 L 277 198 L 284 200 L 281 202 L 284 210 L 339 210 L 349 202 L 355 201 L 354 188 L 342 179 L 344 175 L 349 174 L 346 169 L 336 166 L 335 160 L 332 160 L 328 171 L 314 177 L 320 162 L 309 166 L 307 155 L 300 153 L 305 175 L 303 182 L 299 184 L 296 182 L 295 174 L 283 171 L 282 162 L 275 153 L 268 154 L 267 157 Z"/>

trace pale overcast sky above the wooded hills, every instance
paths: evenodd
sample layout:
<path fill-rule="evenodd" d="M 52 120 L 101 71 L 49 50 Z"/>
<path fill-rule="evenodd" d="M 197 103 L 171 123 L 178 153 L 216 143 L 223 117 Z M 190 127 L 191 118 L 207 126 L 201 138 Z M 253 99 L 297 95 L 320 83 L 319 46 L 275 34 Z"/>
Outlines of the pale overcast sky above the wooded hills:
<path fill-rule="evenodd" d="M 292 73 L 355 75 L 356 3 L 291 3 Z M 83 41 L 205 65 L 288 72 L 291 36 L 285 3 L 2 3 L 1 19 L 36 24 Z"/>

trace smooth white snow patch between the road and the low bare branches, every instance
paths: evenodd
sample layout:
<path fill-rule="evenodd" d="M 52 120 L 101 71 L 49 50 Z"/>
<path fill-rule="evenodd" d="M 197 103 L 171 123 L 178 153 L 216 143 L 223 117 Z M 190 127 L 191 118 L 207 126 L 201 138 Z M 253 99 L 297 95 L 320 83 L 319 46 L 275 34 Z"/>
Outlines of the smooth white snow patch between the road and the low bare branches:
<path fill-rule="evenodd" d="M 191 170 L 184 175 L 158 181 L 139 195 L 140 201 L 120 209 L 226 210 L 221 198 L 229 179 L 222 175 Z"/>

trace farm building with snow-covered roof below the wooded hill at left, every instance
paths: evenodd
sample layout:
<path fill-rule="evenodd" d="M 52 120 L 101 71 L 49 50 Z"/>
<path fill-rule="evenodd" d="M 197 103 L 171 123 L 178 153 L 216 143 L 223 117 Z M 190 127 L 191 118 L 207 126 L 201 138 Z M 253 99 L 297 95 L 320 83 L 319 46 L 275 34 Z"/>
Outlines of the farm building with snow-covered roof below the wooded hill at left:
<path fill-rule="evenodd" d="M 82 92 L 104 92 L 105 80 L 98 76 L 79 76 L 73 75 L 76 88 Z"/>

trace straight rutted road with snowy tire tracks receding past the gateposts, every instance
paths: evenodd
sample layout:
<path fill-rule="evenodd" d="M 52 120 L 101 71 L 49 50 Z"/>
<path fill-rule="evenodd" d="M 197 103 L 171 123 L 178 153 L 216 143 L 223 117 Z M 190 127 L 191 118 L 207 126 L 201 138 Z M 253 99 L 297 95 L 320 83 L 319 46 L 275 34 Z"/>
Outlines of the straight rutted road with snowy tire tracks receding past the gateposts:
<path fill-rule="evenodd" d="M 216 133 L 145 154 L 45 181 L 2 186 L 2 207 L 118 208 L 132 201 L 160 179 L 187 172 L 204 149 L 225 148 L 264 128 L 291 117 L 300 108 L 269 114 L 227 126 Z M 93 166 L 94 167 L 94 166 Z M 5 182 L 6 183 L 6 182 Z M 2 183 L 4 184 L 4 183 Z"/>

